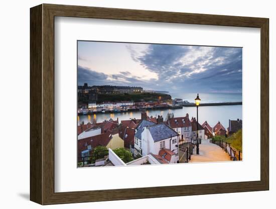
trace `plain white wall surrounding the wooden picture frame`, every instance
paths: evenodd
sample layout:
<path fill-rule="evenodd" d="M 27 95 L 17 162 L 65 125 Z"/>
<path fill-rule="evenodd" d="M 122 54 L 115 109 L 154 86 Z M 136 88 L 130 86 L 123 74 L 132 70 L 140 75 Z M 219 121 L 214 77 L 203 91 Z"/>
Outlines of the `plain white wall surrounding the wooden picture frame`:
<path fill-rule="evenodd" d="M 29 8 L 41 3 L 52 4 L 67 4 L 67 5 L 83 5 L 95 7 L 114 7 L 140 10 L 161 10 L 172 12 L 187 12 L 187 13 L 205 13 L 217 15 L 236 15 L 236 16 L 251 16 L 251 17 L 266 17 L 270 18 L 270 107 L 275 106 L 275 96 L 272 98 L 272 92 L 276 92 L 276 85 L 272 84 L 275 81 L 276 73 L 271 70 L 272 57 L 276 50 L 275 42 L 275 27 L 276 13 L 273 1 L 178 1 L 178 0 L 26 0 L 26 1 L 2 1 L 0 7 L 1 25 L 1 76 L 0 89 L 1 98 L 7 102 L 1 102 L 0 111 L 2 120 L 1 123 L 1 162 L 2 172 L 0 178 L 1 195 L 4 197 L 0 202 L 3 208 L 141 208 L 162 206 L 164 208 L 172 205 L 183 205 L 192 208 L 233 208 L 238 205 L 240 208 L 271 208 L 275 205 L 274 197 L 276 195 L 276 181 L 270 179 L 270 191 L 259 192 L 243 192 L 230 194 L 213 194 L 200 196 L 184 196 L 184 197 L 169 197 L 169 198 L 152 198 L 152 199 L 136 199 L 94 203 L 78 203 L 78 204 L 62 204 L 41 206 L 29 201 Z M 12 13 L 11 13 L 12 11 Z M 273 60 L 274 61 L 274 60 Z M 11 79 L 12 78 L 12 79 Z M 13 83 L 13 84 L 12 84 Z M 11 94 L 10 91 L 17 92 L 20 86 L 20 93 Z M 9 89 L 9 90 L 8 90 Z M 272 101 L 273 100 L 273 101 Z M 21 102 L 21 111 L 15 114 L 9 110 L 17 108 L 17 101 Z M 272 104 L 273 103 L 273 104 Z M 275 122 L 275 111 L 270 109 L 270 130 L 272 130 L 272 122 Z M 16 127 L 11 124 L 16 123 L 20 126 Z M 11 136 L 11 133 L 20 133 L 20 136 Z M 275 154 L 272 149 L 276 150 L 275 143 L 272 139 L 272 131 L 270 131 L 270 176 L 272 173 L 275 176 Z M 8 140 L 9 139 L 9 140 Z M 11 141 L 13 146 L 11 147 Z M 7 156 L 13 149 L 20 156 L 20 161 L 16 164 L 7 163 Z M 272 164 L 273 162 L 273 164 Z M 174 166 L 174 165 L 171 165 Z M 101 169 L 101 168 L 99 168 Z M 169 172 L 169 171 L 168 171 Z M 212 171 L 210 171 L 212 173 Z M 208 173 L 211 174 L 211 173 Z M 204 174 L 203 174 L 204 175 Z M 233 203 L 231 201 L 234 201 Z M 261 200 L 261 201 L 260 201 Z"/>

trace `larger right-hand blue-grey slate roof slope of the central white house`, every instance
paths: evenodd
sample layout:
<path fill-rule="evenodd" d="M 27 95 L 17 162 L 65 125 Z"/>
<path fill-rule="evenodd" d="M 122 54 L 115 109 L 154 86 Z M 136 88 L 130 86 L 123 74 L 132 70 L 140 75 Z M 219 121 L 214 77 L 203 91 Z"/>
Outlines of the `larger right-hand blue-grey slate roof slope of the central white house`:
<path fill-rule="evenodd" d="M 149 131 L 153 137 L 154 142 L 161 141 L 163 139 L 168 139 L 171 136 L 178 136 L 178 133 L 171 129 L 166 124 L 157 124 L 149 127 Z"/>

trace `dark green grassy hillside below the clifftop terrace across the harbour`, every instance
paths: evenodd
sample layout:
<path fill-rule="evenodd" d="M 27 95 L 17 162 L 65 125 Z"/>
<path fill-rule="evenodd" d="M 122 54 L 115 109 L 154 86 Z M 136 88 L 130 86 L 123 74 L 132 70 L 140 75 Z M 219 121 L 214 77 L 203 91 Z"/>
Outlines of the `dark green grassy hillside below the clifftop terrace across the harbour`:
<path fill-rule="evenodd" d="M 120 93 L 99 94 L 98 101 L 158 101 L 172 99 L 171 95 L 165 93 Z"/>

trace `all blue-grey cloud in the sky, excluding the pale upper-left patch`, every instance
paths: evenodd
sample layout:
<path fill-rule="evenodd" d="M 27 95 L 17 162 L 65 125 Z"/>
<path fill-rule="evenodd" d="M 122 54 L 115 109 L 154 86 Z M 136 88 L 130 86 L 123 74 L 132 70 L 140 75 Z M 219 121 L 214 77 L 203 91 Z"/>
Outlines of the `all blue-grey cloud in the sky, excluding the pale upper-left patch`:
<path fill-rule="evenodd" d="M 242 48 L 166 44 L 128 44 L 126 48 L 134 62 L 157 73 L 158 78 L 143 79 L 127 69 L 111 75 L 78 66 L 78 83 L 131 85 L 170 92 L 241 91 Z"/>

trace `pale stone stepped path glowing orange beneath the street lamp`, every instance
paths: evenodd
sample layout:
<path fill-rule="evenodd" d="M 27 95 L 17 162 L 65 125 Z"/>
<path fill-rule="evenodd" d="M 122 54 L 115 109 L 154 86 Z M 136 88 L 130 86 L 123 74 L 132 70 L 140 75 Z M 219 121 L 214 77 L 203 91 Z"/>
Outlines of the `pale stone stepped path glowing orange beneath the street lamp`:
<path fill-rule="evenodd" d="M 199 155 L 196 154 L 196 146 L 189 162 L 218 162 L 230 161 L 230 156 L 223 149 L 209 142 L 208 139 L 201 141 L 199 145 Z"/>

